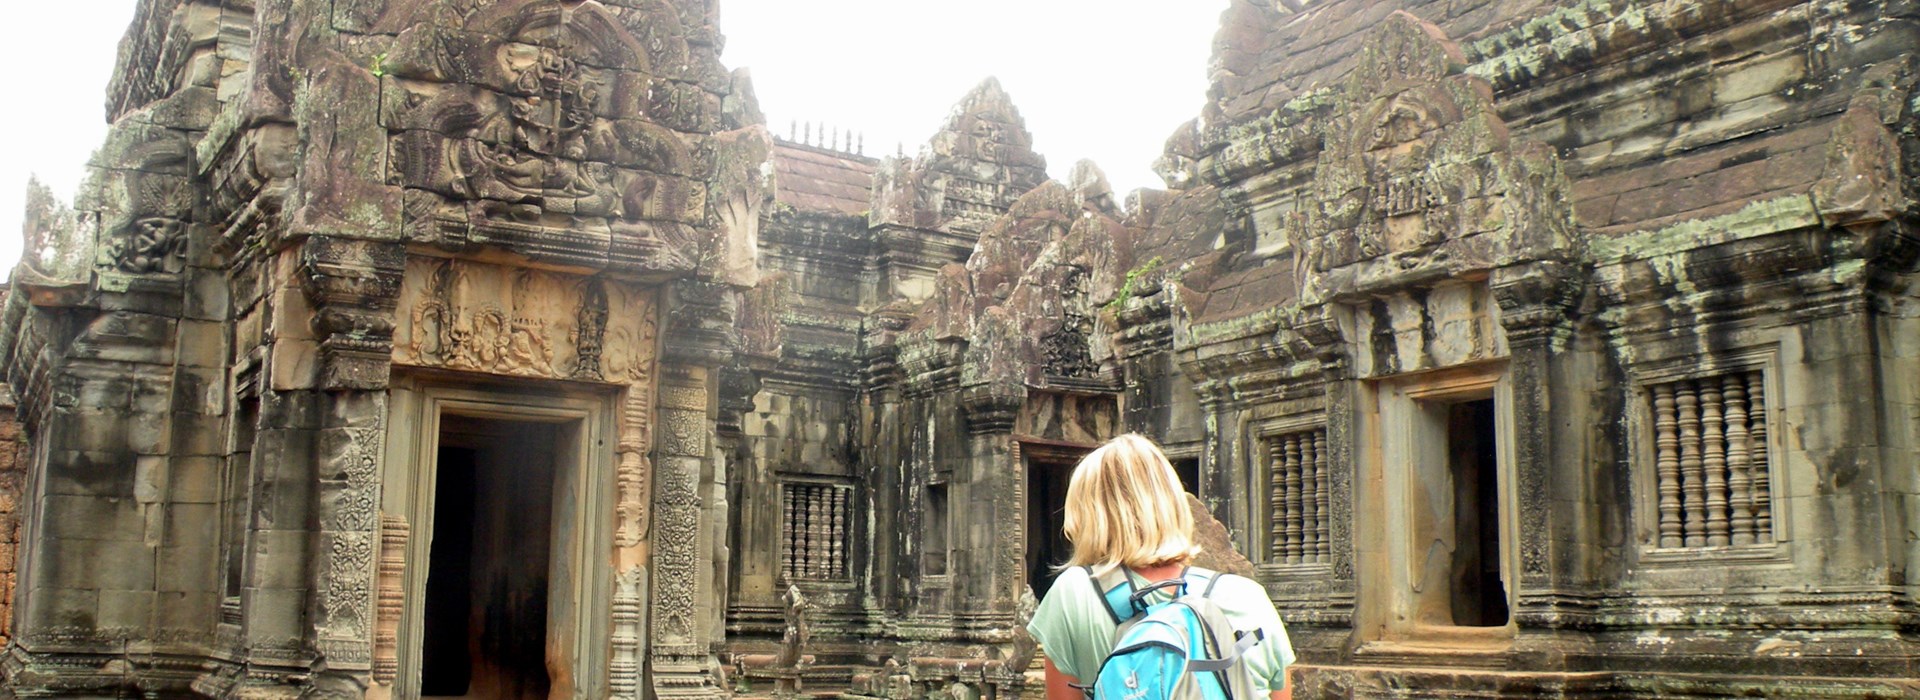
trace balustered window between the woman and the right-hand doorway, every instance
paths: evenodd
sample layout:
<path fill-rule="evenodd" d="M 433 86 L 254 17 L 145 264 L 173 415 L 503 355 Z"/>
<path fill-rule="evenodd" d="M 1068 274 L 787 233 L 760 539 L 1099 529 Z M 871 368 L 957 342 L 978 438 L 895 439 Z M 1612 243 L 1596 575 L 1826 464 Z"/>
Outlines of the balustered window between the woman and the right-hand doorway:
<path fill-rule="evenodd" d="M 1331 560 L 1327 430 L 1302 430 L 1261 439 L 1267 460 L 1269 560 L 1325 564 Z"/>

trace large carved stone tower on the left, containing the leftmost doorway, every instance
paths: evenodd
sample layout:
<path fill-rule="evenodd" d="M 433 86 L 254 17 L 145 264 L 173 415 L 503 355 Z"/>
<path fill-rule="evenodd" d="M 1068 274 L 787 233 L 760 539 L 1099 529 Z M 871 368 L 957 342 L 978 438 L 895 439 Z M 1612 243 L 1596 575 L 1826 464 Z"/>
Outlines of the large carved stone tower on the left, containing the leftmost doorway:
<path fill-rule="evenodd" d="M 142 0 L 6 305 L 8 688 L 724 694 L 772 140 L 718 44 L 710 0 Z"/>

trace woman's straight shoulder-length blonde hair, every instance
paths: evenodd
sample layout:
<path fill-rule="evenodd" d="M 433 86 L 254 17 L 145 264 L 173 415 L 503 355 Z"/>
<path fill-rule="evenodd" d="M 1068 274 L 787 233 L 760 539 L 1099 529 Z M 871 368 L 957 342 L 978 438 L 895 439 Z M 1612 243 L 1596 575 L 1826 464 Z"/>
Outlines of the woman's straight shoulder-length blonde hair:
<path fill-rule="evenodd" d="M 1173 464 L 1154 441 L 1127 433 L 1092 451 L 1068 481 L 1066 568 L 1152 568 L 1200 554 L 1194 514 Z"/>

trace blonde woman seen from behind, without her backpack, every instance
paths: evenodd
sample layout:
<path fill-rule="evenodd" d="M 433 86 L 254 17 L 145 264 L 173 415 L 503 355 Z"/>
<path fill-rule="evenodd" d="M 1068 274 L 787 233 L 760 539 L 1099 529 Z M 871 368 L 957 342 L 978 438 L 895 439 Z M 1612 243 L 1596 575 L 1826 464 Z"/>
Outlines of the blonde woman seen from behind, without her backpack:
<path fill-rule="evenodd" d="M 1085 700 L 1085 688 L 1100 673 L 1119 627 L 1094 581 L 1102 575 L 1114 579 L 1108 573 L 1114 570 L 1123 570 L 1135 589 L 1181 579 L 1200 547 L 1173 464 L 1140 435 L 1114 437 L 1073 468 L 1064 525 L 1073 558 L 1041 600 L 1027 631 L 1046 650 L 1046 700 Z M 1227 614 L 1235 631 L 1263 635 L 1242 662 L 1260 690 L 1267 690 L 1271 700 L 1288 700 L 1286 667 L 1294 662 L 1294 648 L 1267 591 L 1225 573 L 1210 585 L 1208 598 Z M 1169 585 L 1152 595 L 1171 600 L 1175 593 Z"/>

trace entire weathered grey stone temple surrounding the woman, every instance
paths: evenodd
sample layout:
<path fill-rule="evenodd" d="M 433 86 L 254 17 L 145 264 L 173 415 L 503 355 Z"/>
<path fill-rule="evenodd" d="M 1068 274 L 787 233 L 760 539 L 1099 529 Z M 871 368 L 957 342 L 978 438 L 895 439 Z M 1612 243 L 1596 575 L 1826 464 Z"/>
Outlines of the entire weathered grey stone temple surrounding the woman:
<path fill-rule="evenodd" d="M 1031 696 L 1121 432 L 1296 698 L 1920 696 L 1914 17 L 1231 0 L 1117 198 L 993 81 L 774 138 L 716 0 L 140 0 L 0 696 Z"/>

